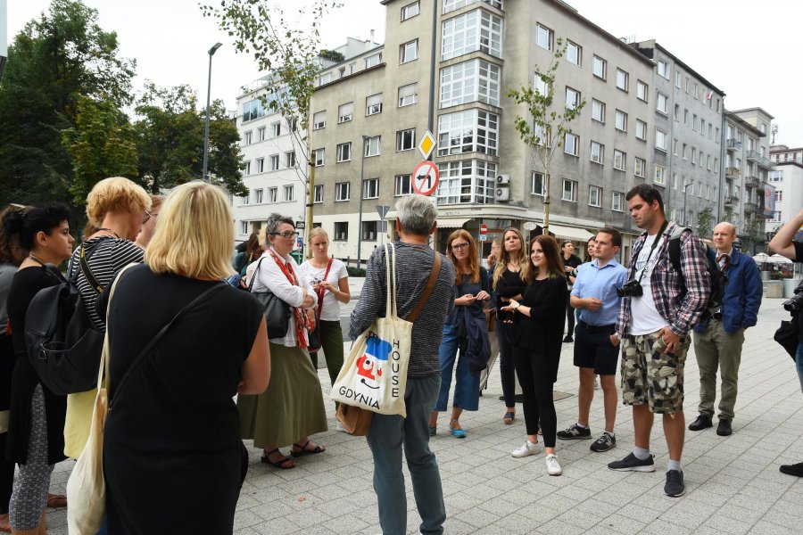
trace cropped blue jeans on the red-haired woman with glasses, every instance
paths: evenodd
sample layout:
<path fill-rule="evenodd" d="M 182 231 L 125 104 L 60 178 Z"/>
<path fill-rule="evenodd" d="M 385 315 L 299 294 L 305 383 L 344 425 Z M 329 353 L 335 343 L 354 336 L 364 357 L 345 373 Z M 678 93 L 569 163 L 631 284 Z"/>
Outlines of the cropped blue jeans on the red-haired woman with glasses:
<path fill-rule="evenodd" d="M 438 394 L 438 403 L 435 405 L 435 410 L 438 412 L 445 411 L 446 404 L 449 402 L 451 372 L 454 370 L 454 361 L 460 345 L 459 330 L 459 325 L 443 325 L 443 341 L 438 356 L 441 362 L 441 392 Z M 457 361 L 457 370 L 454 372 L 454 400 L 451 406 L 465 410 L 477 410 L 479 408 L 480 374 L 471 374 L 468 370 L 468 358 L 460 355 Z"/>

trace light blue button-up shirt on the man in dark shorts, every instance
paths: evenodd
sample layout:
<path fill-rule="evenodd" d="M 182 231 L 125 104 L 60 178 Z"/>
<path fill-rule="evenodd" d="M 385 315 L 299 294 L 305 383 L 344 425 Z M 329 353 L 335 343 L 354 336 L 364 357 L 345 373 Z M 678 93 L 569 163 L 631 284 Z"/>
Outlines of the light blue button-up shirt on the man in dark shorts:
<path fill-rule="evenodd" d="M 627 269 L 616 259 L 610 259 L 601 268 L 597 260 L 586 262 L 577 268 L 572 295 L 579 298 L 593 297 L 602 301 L 597 311 L 580 309 L 580 321 L 588 325 L 613 325 L 617 323 L 619 296 L 617 288 L 627 281 Z"/>

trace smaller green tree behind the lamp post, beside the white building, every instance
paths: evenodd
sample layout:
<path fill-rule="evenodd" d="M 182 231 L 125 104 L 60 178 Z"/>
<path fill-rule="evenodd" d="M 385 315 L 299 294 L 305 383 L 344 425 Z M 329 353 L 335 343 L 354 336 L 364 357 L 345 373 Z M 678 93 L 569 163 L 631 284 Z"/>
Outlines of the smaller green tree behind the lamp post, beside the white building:
<path fill-rule="evenodd" d="M 205 110 L 197 110 L 196 103 L 195 91 L 190 86 L 168 89 L 152 82 L 146 83 L 137 101 L 138 119 L 134 125 L 139 152 L 137 174 L 152 193 L 202 176 Z M 210 106 L 209 125 L 211 182 L 235 195 L 247 193 L 240 172 L 244 162 L 239 141 L 239 132 L 223 103 L 215 101 Z"/>

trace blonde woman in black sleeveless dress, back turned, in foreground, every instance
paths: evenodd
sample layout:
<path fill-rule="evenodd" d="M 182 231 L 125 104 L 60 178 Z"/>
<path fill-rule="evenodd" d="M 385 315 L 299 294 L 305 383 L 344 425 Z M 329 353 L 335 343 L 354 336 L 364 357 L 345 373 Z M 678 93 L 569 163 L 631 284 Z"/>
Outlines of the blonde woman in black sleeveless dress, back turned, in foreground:
<path fill-rule="evenodd" d="M 110 533 L 233 531 L 248 452 L 232 398 L 265 390 L 270 356 L 259 303 L 221 282 L 233 271 L 231 220 L 217 186 L 179 185 L 161 207 L 147 264 L 123 273 L 112 296 Z M 199 496 L 213 504 L 203 514 Z"/>

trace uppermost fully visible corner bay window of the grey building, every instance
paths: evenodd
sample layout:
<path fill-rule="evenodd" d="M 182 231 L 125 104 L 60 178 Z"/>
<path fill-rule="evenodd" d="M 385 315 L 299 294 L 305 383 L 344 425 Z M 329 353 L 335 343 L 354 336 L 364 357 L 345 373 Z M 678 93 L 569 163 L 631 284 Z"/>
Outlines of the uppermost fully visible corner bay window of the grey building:
<path fill-rule="evenodd" d="M 441 60 L 472 52 L 501 57 L 501 19 L 477 9 L 443 21 Z"/>

